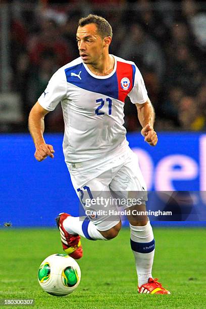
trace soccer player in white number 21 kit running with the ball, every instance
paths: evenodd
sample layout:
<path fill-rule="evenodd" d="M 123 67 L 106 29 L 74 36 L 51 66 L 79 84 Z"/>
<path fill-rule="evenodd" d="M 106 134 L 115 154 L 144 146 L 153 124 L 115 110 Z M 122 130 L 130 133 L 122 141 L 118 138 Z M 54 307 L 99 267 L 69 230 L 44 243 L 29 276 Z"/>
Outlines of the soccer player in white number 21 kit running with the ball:
<path fill-rule="evenodd" d="M 76 38 L 80 57 L 60 68 L 50 79 L 30 112 L 29 130 L 36 147 L 36 160 L 54 158 L 53 146 L 43 138 L 44 116 L 61 101 L 65 162 L 74 189 L 87 210 L 86 197 L 97 200 L 102 195 L 109 197 L 116 193 L 127 198 L 146 190 L 138 162 L 125 137 L 123 109 L 127 95 L 136 105 L 145 142 L 155 146 L 158 137 L 153 129 L 155 113 L 138 68 L 133 62 L 109 54 L 112 28 L 108 21 L 92 14 L 80 19 Z M 126 204 L 125 209 L 145 210 L 145 200 L 146 197 L 141 205 L 132 207 Z M 110 204 L 108 212 L 100 215 L 99 207 L 97 203 L 92 204 L 88 217 L 61 213 L 56 218 L 63 249 L 72 258 L 82 256 L 80 236 L 109 240 L 118 235 L 120 216 L 109 215 L 109 210 L 117 209 L 116 205 Z M 151 275 L 155 240 L 148 218 L 131 213 L 128 220 L 138 292 L 169 294 Z"/>

